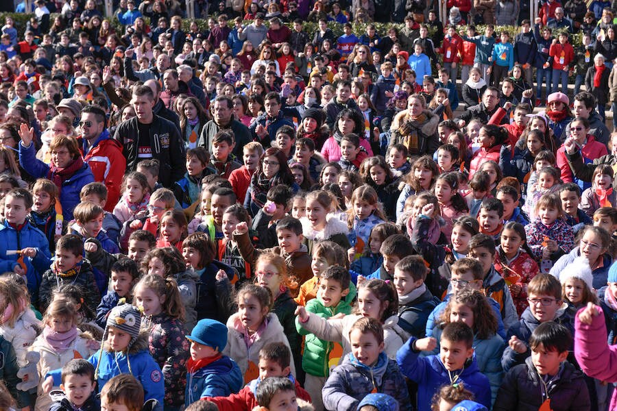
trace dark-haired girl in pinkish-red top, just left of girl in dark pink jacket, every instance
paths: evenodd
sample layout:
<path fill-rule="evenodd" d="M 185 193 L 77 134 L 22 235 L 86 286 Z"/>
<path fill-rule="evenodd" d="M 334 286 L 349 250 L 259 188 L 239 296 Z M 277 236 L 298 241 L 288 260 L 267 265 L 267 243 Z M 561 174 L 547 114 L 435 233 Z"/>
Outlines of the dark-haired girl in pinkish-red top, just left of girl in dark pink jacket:
<path fill-rule="evenodd" d="M 452 225 L 459 217 L 468 214 L 467 202 L 459 194 L 459 177 L 457 173 L 441 174 L 435 182 L 435 197 L 439 201 L 439 210 L 445 224 L 441 232 L 446 238 L 452 235 Z"/>

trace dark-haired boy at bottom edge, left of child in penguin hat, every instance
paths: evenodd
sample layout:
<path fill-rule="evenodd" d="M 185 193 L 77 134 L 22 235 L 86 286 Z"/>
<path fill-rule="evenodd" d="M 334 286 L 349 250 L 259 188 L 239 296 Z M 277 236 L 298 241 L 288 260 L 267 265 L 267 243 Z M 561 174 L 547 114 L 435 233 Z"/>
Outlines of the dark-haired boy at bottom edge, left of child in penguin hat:
<path fill-rule="evenodd" d="M 60 384 L 62 391 L 51 391 L 49 393 L 54 400 L 49 410 L 100 410 L 101 401 L 95 394 L 94 373 L 94 366 L 83 358 L 76 358 L 67 362 L 62 367 L 62 384 Z"/>

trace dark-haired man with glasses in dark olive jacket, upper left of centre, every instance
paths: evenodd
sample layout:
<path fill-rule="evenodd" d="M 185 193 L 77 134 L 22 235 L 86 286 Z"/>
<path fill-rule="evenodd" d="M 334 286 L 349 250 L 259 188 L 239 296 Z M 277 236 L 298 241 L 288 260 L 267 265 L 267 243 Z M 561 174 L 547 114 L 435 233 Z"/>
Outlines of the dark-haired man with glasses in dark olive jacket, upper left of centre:
<path fill-rule="evenodd" d="M 251 132 L 242 123 L 234 119 L 234 105 L 228 96 L 217 96 L 213 103 L 213 119 L 208 121 L 199 135 L 197 146 L 206 147 L 210 153 L 213 152 L 212 140 L 220 129 L 231 129 L 236 138 L 234 155 L 242 158 L 242 148 L 252 140 Z"/>

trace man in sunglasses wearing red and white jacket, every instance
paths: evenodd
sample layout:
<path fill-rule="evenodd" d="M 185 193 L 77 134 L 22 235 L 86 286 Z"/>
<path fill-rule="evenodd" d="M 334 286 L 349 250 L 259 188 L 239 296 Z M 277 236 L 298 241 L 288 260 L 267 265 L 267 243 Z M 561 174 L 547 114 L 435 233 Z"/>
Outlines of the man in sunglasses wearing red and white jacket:
<path fill-rule="evenodd" d="M 95 181 L 107 187 L 105 210 L 112 212 L 120 199 L 120 186 L 126 169 L 122 145 L 110 136 L 105 112 L 95 105 L 86 105 L 82 110 L 80 132 L 77 138 L 80 151 Z"/>

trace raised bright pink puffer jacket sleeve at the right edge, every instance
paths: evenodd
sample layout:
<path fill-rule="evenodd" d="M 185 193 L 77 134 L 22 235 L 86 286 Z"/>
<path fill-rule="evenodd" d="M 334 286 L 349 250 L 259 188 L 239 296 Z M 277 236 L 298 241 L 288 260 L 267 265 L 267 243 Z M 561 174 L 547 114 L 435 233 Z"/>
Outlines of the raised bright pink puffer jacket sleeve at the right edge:
<path fill-rule="evenodd" d="M 585 375 L 601 381 L 617 382 L 617 345 L 608 345 L 604 313 L 594 316 L 591 325 L 574 319 L 574 356 Z M 609 410 L 617 410 L 617 390 L 613 391 Z"/>

